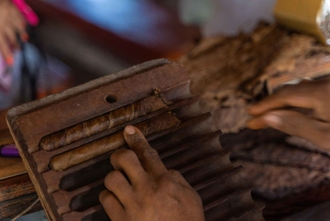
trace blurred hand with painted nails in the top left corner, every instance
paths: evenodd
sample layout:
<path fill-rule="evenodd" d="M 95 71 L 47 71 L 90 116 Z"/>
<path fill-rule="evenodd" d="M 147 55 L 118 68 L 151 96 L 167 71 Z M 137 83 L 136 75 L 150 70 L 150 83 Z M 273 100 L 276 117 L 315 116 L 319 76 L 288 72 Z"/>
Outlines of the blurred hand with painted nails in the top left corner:
<path fill-rule="evenodd" d="M 12 48 L 18 48 L 16 35 L 26 42 L 26 22 L 21 12 L 10 0 L 0 0 L 0 52 L 7 64 L 13 64 Z"/>

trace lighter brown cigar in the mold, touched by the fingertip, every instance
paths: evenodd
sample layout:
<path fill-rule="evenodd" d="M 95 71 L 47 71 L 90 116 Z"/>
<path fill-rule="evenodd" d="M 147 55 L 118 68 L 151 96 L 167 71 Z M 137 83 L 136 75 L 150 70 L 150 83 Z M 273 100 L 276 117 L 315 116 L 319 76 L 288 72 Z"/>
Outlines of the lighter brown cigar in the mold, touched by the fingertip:
<path fill-rule="evenodd" d="M 167 112 L 138 123 L 135 126 L 140 129 L 145 136 L 147 136 L 165 129 L 177 126 L 179 123 L 180 121 L 174 117 L 173 113 Z M 119 131 L 107 137 L 94 141 L 75 150 L 54 156 L 51 159 L 50 166 L 54 170 L 62 172 L 96 156 L 119 148 L 123 145 L 125 145 L 123 131 Z"/>

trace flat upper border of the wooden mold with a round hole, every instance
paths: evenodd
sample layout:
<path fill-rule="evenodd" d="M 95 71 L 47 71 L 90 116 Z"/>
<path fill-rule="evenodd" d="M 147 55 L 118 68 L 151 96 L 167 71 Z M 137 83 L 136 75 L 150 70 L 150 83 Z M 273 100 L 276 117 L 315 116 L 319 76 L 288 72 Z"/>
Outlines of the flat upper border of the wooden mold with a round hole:
<path fill-rule="evenodd" d="M 30 104 L 30 108 L 40 108 L 35 111 L 26 112 L 23 118 L 19 115 L 25 112 L 26 106 L 24 104 L 11 109 L 9 115 L 15 112 L 18 113 L 14 117 L 16 118 L 15 122 L 20 124 L 21 131 L 24 133 L 24 139 L 29 142 L 26 143 L 29 152 L 33 153 L 40 150 L 38 143 L 43 136 L 63 130 L 63 124 L 67 126 L 78 124 L 81 121 L 91 119 L 91 115 L 101 115 L 110 110 L 148 97 L 156 88 L 163 91 L 189 80 L 186 76 L 179 75 L 182 71 L 179 64 L 161 65 L 160 62 L 157 62 L 157 66 L 153 70 L 150 70 L 154 65 L 154 63 L 148 63 L 148 65 L 139 66 L 139 68 L 132 67 L 127 71 L 118 73 L 116 75 L 121 77 L 116 79 L 112 84 L 109 82 L 109 80 L 113 79 L 110 75 L 101 78 L 101 80 L 97 79 L 81 87 L 72 88 L 64 92 L 50 96 L 48 99 L 34 101 Z M 143 70 L 145 70 L 144 75 L 134 75 L 130 78 L 131 80 L 124 80 L 124 77 Z M 164 78 L 158 79 L 160 74 L 164 75 Z M 125 93 L 124 91 L 132 89 L 131 84 L 133 81 L 135 82 L 134 90 L 140 92 L 132 95 Z M 96 88 L 97 84 L 99 88 Z M 72 96 L 74 92 L 76 92 L 75 97 Z M 109 95 L 116 96 L 118 101 L 114 103 L 107 102 L 106 97 Z M 53 100 L 53 102 L 57 101 L 56 106 L 48 106 L 48 100 Z M 74 109 L 77 110 L 75 114 L 73 111 L 64 111 Z M 48 126 L 50 124 L 52 124 L 52 126 Z M 34 130 L 31 131 L 30 126 L 33 126 Z"/>

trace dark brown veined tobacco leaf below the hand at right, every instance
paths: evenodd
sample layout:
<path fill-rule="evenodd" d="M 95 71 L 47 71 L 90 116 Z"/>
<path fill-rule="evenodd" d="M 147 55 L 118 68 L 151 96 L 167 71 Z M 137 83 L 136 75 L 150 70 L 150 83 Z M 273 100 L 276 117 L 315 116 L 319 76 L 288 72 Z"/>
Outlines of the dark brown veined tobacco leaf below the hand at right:
<path fill-rule="evenodd" d="M 329 155 L 294 146 L 288 140 L 290 136 L 273 129 L 245 129 L 220 136 L 221 145 L 231 150 L 232 161 L 243 166 L 241 176 L 254 187 L 253 192 L 282 203 L 287 196 L 296 200 L 296 195 L 300 194 L 306 199 L 308 196 L 304 191 L 330 185 Z M 297 205 L 299 202 L 295 201 L 290 207 Z"/>

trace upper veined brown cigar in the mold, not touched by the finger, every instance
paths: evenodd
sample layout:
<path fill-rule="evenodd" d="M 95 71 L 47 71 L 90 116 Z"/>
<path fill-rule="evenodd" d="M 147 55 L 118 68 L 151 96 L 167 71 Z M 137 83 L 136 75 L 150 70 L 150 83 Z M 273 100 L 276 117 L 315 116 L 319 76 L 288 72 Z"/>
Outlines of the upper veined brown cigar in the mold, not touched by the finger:
<path fill-rule="evenodd" d="M 166 108 L 166 103 L 168 102 L 161 95 L 144 98 L 109 113 L 44 136 L 41 139 L 40 146 L 45 151 L 56 150 L 92 134 L 146 115 L 153 111 Z"/>

